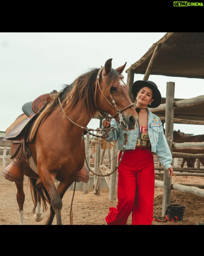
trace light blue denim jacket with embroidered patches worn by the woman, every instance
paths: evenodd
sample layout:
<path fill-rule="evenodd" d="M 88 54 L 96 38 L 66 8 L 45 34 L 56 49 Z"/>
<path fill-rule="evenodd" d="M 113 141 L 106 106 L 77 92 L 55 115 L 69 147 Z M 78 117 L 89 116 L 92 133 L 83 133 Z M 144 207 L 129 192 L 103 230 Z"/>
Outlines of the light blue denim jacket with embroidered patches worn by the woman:
<path fill-rule="evenodd" d="M 163 126 L 160 118 L 157 115 L 152 114 L 148 111 L 148 135 L 151 143 L 151 152 L 155 152 L 159 162 L 164 166 L 164 169 L 172 167 L 172 154 L 169 149 L 169 145 L 164 135 Z M 118 127 L 118 122 L 112 119 L 111 126 Z M 128 141 L 125 146 L 125 150 L 135 149 L 137 135 L 138 135 L 138 124 L 135 130 L 127 131 Z M 113 132 L 109 132 L 109 136 L 104 138 L 107 142 L 118 141 L 118 150 L 123 150 L 124 146 L 124 130 L 118 128 Z"/>

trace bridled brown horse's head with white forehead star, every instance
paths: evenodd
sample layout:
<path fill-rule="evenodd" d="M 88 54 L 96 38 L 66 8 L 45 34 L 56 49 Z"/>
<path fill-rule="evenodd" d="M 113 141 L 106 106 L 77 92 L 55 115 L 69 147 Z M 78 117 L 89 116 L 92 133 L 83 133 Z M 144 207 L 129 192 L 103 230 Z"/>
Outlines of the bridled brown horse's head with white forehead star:
<path fill-rule="evenodd" d="M 112 69 L 112 59 L 98 72 L 95 87 L 95 104 L 97 108 L 116 119 L 124 130 L 133 130 L 138 122 L 138 114 L 132 103 L 128 88 L 123 81 L 122 72 L 126 66 Z"/>

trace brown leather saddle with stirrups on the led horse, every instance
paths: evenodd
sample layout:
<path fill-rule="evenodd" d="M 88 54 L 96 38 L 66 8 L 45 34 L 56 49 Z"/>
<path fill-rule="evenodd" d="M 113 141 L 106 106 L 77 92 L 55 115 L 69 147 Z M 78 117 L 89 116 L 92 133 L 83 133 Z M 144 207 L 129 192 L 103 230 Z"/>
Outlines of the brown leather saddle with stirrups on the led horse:
<path fill-rule="evenodd" d="M 11 124 L 7 129 L 7 134 L 3 138 L 3 141 L 11 142 L 11 143 L 20 143 L 19 147 L 17 148 L 16 152 L 10 157 L 13 159 L 13 162 L 9 164 L 3 171 L 2 176 L 10 181 L 15 181 L 20 183 L 23 174 L 22 174 L 22 164 L 23 161 L 20 161 L 22 156 L 24 156 L 26 162 L 30 166 L 27 154 L 31 155 L 29 148 L 25 150 L 25 142 L 31 142 L 37 127 L 40 124 L 41 118 L 40 113 L 45 110 L 47 103 L 51 101 L 49 95 L 52 93 L 56 93 L 57 91 L 54 90 L 53 92 L 43 94 L 36 98 L 33 102 L 27 102 L 23 105 L 22 110 L 24 114 L 21 114 L 13 124 Z M 87 131 L 84 131 L 86 134 Z M 17 159 L 16 156 L 18 155 Z M 21 157 L 19 157 L 21 155 Z M 29 158 L 30 159 L 30 158 Z M 37 165 L 36 165 L 37 166 Z M 31 167 L 31 166 L 30 166 Z M 32 167 L 31 167 L 32 168 Z M 34 170 L 35 171 L 35 170 Z M 88 183 L 89 181 L 89 173 L 85 166 L 77 174 L 77 182 L 85 182 Z"/>

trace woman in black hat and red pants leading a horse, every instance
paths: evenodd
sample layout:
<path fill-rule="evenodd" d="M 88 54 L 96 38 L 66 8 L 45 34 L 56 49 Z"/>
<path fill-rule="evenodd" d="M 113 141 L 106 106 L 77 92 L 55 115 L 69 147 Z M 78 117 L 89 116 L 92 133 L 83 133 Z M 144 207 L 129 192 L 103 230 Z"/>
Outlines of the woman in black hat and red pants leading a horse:
<path fill-rule="evenodd" d="M 118 204 L 110 207 L 106 216 L 108 225 L 126 225 L 132 212 L 132 225 L 151 225 L 154 209 L 155 152 L 169 177 L 173 174 L 172 154 L 164 136 L 163 126 L 158 116 L 148 108 L 156 108 L 161 104 L 161 93 L 157 85 L 151 81 L 139 80 L 132 85 L 132 94 L 137 96 L 136 111 L 139 121 L 136 129 L 127 131 L 128 141 L 122 161 L 118 167 Z M 147 108 L 148 107 L 148 108 Z M 118 126 L 113 119 L 103 121 L 104 127 Z M 109 132 L 107 142 L 118 140 L 120 159 L 124 145 L 122 128 Z"/>

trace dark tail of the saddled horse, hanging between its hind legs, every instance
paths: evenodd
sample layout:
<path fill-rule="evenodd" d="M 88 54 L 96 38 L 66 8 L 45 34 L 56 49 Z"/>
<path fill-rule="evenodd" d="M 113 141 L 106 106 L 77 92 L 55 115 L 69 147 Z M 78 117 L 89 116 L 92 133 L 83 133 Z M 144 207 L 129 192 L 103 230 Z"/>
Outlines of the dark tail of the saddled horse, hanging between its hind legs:
<path fill-rule="evenodd" d="M 43 207 L 43 211 L 47 210 L 47 203 L 49 205 L 51 205 L 51 200 L 49 197 L 49 194 L 46 190 L 46 188 L 43 186 L 42 191 L 40 191 L 38 189 L 38 187 L 36 186 L 37 183 L 37 179 L 36 178 L 29 178 L 30 181 L 30 190 L 31 190 L 31 196 L 32 196 L 32 200 L 33 200 L 33 204 L 34 204 L 34 208 L 33 208 L 33 213 L 35 212 L 35 209 L 37 207 L 37 191 L 41 194 L 41 206 Z"/>

